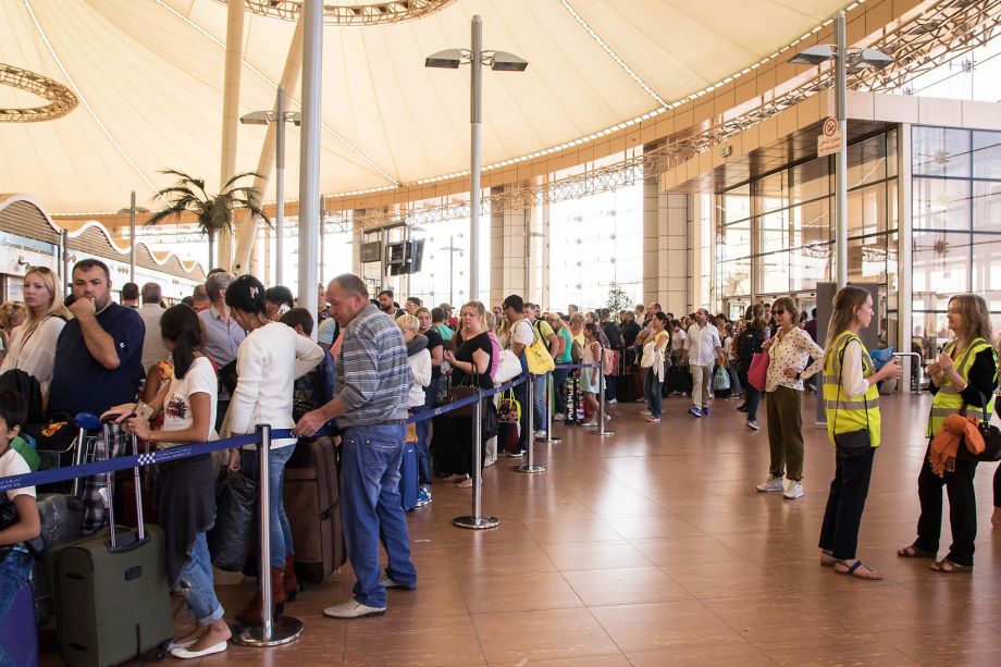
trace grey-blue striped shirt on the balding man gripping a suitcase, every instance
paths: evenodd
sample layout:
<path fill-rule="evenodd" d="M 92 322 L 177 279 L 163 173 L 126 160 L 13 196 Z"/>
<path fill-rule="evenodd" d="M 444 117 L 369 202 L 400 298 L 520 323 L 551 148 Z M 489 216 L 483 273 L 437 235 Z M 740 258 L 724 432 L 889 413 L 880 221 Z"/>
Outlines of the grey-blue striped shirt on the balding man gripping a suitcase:
<path fill-rule="evenodd" d="M 337 425 L 370 427 L 407 418 L 407 346 L 399 328 L 369 304 L 344 329 L 336 393 L 348 406 Z"/>

